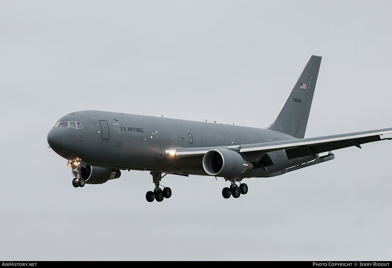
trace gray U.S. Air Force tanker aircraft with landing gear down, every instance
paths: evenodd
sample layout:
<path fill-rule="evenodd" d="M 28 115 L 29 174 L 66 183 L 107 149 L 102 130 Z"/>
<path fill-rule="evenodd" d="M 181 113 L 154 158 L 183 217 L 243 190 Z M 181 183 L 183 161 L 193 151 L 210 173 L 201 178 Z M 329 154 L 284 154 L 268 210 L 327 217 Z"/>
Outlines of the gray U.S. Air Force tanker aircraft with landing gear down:
<path fill-rule="evenodd" d="M 116 179 L 120 170 L 148 170 L 155 188 L 146 199 L 160 202 L 172 194 L 160 188 L 167 174 L 223 177 L 230 182 L 223 197 L 238 198 L 248 192 L 244 178 L 278 176 L 332 160 L 332 150 L 392 139 L 380 138 L 392 128 L 304 138 L 320 63 L 310 57 L 265 129 L 86 110 L 58 120 L 47 150 L 68 160 L 74 187 Z"/>

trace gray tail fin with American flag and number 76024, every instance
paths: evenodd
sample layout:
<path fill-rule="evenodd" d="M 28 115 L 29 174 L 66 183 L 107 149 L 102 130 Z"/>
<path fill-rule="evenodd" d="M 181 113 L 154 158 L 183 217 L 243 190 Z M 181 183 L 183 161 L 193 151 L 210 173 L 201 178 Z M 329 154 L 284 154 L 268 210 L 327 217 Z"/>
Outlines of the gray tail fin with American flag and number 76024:
<path fill-rule="evenodd" d="M 266 129 L 283 132 L 299 139 L 305 137 L 320 63 L 320 56 L 310 57 L 278 116 Z"/>

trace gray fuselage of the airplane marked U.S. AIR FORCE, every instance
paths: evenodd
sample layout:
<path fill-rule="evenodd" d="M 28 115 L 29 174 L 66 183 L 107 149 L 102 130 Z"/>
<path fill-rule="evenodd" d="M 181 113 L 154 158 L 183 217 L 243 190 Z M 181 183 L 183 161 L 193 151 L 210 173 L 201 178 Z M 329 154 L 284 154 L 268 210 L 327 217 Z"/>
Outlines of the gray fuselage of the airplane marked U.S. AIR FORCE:
<path fill-rule="evenodd" d="M 66 159 L 80 159 L 95 167 L 175 174 L 208 175 L 201 164 L 202 156 L 169 158 L 165 150 L 296 139 L 269 129 L 95 110 L 67 114 L 58 120 L 63 121 L 83 124 L 79 129 L 54 127 L 49 131 L 49 145 Z M 306 156 L 289 160 L 285 150 L 270 152 L 269 157 L 274 165 L 268 168 L 268 172 L 256 168 L 240 177 L 267 177 L 271 172 L 315 159 Z"/>

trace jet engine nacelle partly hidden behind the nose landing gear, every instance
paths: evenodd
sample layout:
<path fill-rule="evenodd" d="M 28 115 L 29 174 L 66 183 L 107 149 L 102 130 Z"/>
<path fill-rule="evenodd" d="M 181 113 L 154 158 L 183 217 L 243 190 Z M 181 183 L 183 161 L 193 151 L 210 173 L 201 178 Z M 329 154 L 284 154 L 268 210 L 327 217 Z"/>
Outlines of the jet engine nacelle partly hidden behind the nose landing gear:
<path fill-rule="evenodd" d="M 74 178 L 77 176 L 74 171 L 72 171 L 72 175 Z M 86 166 L 80 169 L 80 177 L 88 184 L 102 184 L 109 181 L 109 179 L 117 179 L 120 176 L 121 171 L 112 168 Z"/>

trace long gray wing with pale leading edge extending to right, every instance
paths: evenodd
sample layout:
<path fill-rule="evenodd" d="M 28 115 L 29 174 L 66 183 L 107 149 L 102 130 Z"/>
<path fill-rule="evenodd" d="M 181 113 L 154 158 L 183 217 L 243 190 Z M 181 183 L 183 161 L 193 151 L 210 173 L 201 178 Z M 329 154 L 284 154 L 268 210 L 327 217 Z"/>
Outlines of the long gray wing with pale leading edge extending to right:
<path fill-rule="evenodd" d="M 254 143 L 236 146 L 219 146 L 219 147 L 199 147 L 199 148 L 174 148 L 166 150 L 166 154 L 184 158 L 191 156 L 202 156 L 211 149 L 228 148 L 240 153 L 247 152 L 272 152 L 277 150 L 286 150 L 289 159 L 299 158 L 302 156 L 316 156 L 321 152 L 328 152 L 336 149 L 356 146 L 361 148 L 361 144 L 372 141 L 379 141 L 380 135 L 392 133 L 392 128 L 368 130 L 363 132 L 354 132 L 332 136 L 323 136 L 316 138 L 291 139 L 287 141 Z M 392 139 L 392 138 L 384 138 Z"/>

